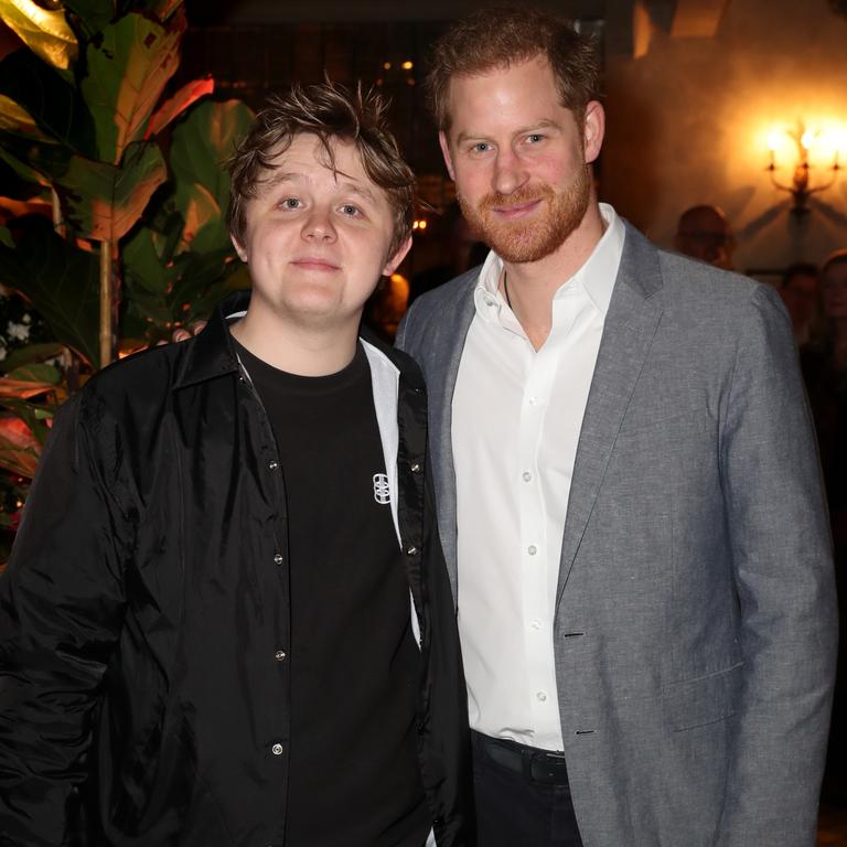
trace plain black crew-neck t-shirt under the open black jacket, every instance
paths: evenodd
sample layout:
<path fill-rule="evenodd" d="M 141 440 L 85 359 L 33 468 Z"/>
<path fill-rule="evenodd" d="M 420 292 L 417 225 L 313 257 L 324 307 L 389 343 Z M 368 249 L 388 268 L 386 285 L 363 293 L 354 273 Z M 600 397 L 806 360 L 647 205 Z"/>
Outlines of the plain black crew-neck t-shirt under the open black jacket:
<path fill-rule="evenodd" d="M 287 847 L 420 847 L 420 657 L 362 345 L 330 376 L 236 345 L 283 471 L 291 586 Z"/>

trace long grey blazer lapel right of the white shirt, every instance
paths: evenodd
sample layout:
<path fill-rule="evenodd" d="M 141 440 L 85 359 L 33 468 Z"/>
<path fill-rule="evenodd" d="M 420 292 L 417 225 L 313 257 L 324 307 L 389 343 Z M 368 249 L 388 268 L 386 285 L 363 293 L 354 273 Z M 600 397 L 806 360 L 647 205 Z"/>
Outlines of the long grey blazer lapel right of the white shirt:
<path fill-rule="evenodd" d="M 614 440 L 658 326 L 662 309 L 658 298 L 652 296 L 661 288 L 656 248 L 628 224 L 573 463 L 561 542 L 557 612 Z"/>

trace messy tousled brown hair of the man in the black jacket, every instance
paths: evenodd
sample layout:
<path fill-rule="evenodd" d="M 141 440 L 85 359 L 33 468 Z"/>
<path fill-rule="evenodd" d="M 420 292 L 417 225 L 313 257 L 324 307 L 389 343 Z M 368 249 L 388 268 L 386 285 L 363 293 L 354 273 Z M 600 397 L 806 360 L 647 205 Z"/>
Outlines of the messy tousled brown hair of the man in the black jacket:
<path fill-rule="evenodd" d="M 394 214 L 388 255 L 394 256 L 411 235 L 415 175 L 388 128 L 387 103 L 374 90 L 363 92 L 361 83 L 354 90 L 329 81 L 294 84 L 287 94 L 268 99 L 227 162 L 230 182 L 226 222 L 233 238 L 244 244 L 247 203 L 270 174 L 277 157 L 304 132 L 318 137 L 325 152 L 323 163 L 333 171 L 333 142 L 355 144 L 365 173 L 388 197 Z"/>

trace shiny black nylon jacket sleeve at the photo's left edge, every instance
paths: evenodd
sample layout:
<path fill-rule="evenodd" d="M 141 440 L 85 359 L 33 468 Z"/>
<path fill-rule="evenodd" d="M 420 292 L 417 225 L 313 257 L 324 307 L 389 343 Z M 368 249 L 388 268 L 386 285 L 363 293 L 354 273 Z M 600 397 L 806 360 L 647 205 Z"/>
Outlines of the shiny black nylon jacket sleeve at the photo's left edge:
<path fill-rule="evenodd" d="M 0 578 L 0 845 L 76 843 L 100 680 L 120 632 L 116 510 L 81 420 L 56 417 Z"/>

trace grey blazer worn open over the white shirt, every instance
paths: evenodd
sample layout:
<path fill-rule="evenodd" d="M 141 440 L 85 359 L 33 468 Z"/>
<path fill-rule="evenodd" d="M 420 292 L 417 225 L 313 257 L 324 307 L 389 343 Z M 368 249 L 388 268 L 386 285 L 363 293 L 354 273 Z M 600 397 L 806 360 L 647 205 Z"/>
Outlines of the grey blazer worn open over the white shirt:
<path fill-rule="evenodd" d="M 418 300 L 397 339 L 429 387 L 454 598 L 451 400 L 478 274 Z M 628 225 L 554 626 L 586 847 L 812 847 L 836 629 L 812 421 L 779 297 Z"/>

